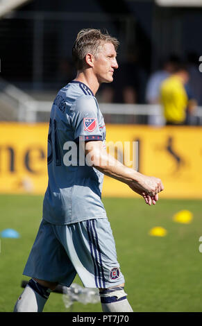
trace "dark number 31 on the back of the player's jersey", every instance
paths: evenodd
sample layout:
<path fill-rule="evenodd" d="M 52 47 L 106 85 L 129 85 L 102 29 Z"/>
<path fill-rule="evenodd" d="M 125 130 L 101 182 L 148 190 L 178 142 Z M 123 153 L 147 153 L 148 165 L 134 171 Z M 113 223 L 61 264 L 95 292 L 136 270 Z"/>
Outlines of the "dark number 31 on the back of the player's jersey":
<path fill-rule="evenodd" d="M 52 128 L 53 128 L 53 133 L 52 133 Z M 53 134 L 53 142 L 52 142 L 52 134 Z M 57 122 L 54 119 L 52 123 L 52 120 L 50 119 L 49 136 L 48 136 L 48 159 L 47 159 L 48 164 L 50 164 L 53 160 L 53 149 L 55 151 L 56 166 L 60 166 L 61 156 L 60 156 L 60 148 L 59 148 L 59 141 L 58 141 Z"/>

